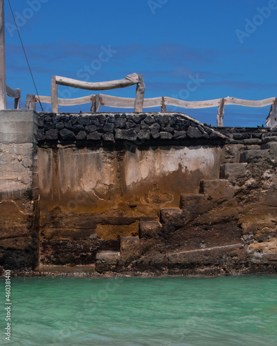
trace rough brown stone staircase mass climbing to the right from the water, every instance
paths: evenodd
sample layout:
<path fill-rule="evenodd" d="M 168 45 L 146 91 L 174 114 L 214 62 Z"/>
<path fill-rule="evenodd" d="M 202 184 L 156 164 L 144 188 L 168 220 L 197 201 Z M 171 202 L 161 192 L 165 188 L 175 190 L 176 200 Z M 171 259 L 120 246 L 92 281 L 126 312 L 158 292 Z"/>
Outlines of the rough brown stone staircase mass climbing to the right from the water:
<path fill-rule="evenodd" d="M 240 162 L 222 163 L 220 179 L 201 181 L 198 194 L 182 194 L 179 209 L 161 209 L 161 223 L 141 222 L 139 239 L 121 248 L 113 270 L 276 273 L 277 143 L 245 149 Z"/>

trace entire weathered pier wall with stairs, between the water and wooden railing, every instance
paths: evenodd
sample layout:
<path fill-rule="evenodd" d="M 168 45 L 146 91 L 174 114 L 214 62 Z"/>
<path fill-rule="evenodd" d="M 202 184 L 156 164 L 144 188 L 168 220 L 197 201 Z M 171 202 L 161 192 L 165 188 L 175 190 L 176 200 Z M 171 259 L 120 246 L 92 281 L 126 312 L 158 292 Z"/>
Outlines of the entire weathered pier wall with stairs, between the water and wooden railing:
<path fill-rule="evenodd" d="M 275 129 L 181 113 L 0 115 L 0 266 L 274 273 Z"/>

